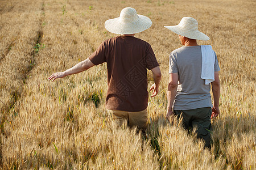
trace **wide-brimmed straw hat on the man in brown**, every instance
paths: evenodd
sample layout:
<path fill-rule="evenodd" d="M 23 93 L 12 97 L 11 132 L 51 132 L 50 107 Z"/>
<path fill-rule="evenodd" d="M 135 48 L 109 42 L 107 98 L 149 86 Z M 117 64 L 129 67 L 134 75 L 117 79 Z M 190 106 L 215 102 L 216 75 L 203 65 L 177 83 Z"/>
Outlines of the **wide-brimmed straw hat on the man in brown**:
<path fill-rule="evenodd" d="M 109 19 L 105 22 L 105 28 L 116 34 L 133 34 L 146 30 L 152 25 L 147 16 L 138 15 L 131 7 L 123 8 L 118 18 Z"/>

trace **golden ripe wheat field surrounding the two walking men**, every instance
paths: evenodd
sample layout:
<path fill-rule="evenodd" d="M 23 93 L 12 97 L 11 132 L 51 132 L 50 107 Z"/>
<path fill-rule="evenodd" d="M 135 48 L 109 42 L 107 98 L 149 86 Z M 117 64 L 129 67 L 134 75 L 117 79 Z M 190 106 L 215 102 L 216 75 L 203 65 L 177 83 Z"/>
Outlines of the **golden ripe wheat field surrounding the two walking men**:
<path fill-rule="evenodd" d="M 104 28 L 124 7 L 148 16 L 162 71 L 148 100 L 146 137 L 117 127 L 105 111 L 106 63 L 55 82 L 52 73 L 88 58 L 114 35 Z M 0 0 L 0 167 L 2 169 L 256 169 L 255 0 Z M 164 28 L 198 20 L 220 64 L 220 117 L 212 148 L 180 121 L 164 120 L 168 54 L 181 46 Z M 154 83 L 148 71 L 148 88 Z"/>

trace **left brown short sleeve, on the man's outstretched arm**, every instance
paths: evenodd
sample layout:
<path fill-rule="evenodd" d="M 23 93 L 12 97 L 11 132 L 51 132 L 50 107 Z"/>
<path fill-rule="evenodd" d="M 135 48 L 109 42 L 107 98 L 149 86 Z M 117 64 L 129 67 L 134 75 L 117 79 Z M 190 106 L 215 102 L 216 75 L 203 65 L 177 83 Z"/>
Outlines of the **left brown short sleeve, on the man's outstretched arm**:
<path fill-rule="evenodd" d="M 102 42 L 100 46 L 98 46 L 97 50 L 90 55 L 89 59 L 92 61 L 94 65 L 99 65 L 101 63 L 106 62 L 106 49 L 105 43 Z"/>

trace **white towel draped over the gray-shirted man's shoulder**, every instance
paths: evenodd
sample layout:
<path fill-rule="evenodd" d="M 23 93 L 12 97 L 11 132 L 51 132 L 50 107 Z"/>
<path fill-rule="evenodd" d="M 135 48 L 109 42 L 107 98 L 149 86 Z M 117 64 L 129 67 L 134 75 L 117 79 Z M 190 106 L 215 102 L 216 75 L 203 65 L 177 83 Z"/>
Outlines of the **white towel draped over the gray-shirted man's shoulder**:
<path fill-rule="evenodd" d="M 201 79 L 205 79 L 205 84 L 214 81 L 215 54 L 210 45 L 201 45 L 202 52 L 202 73 Z"/>

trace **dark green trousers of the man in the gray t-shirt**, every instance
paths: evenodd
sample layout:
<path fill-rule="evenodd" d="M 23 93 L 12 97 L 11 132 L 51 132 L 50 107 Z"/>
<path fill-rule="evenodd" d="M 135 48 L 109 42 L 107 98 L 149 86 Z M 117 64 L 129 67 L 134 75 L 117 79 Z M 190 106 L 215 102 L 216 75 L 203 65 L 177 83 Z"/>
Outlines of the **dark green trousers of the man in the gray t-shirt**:
<path fill-rule="evenodd" d="M 212 114 L 212 108 L 198 108 L 191 110 L 174 110 L 174 114 L 177 118 L 183 117 L 183 126 L 187 130 L 196 129 L 197 138 L 201 138 L 205 141 L 205 147 L 210 148 L 210 130 L 212 125 L 210 124 L 210 115 Z"/>

